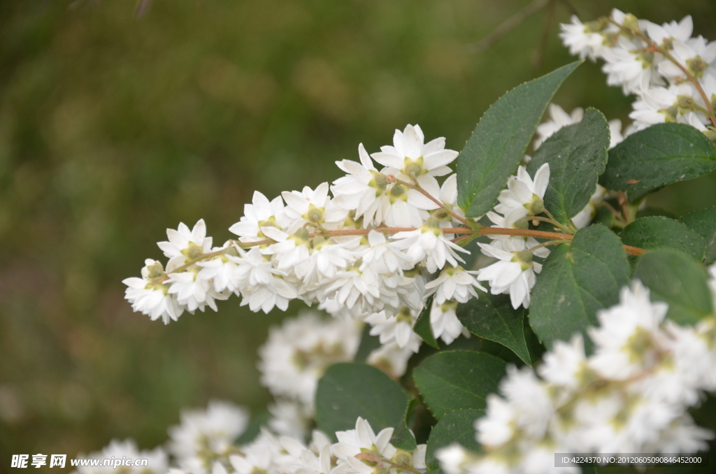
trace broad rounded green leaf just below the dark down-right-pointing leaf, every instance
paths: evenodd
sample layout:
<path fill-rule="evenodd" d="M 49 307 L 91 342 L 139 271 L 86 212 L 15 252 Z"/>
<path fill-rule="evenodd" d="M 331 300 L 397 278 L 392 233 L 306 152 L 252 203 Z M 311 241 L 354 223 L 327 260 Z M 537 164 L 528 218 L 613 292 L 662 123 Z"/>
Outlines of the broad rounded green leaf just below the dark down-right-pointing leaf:
<path fill-rule="evenodd" d="M 417 390 L 437 420 L 455 410 L 484 410 L 485 397 L 505 375 L 505 362 L 482 352 L 438 352 L 413 372 Z"/>

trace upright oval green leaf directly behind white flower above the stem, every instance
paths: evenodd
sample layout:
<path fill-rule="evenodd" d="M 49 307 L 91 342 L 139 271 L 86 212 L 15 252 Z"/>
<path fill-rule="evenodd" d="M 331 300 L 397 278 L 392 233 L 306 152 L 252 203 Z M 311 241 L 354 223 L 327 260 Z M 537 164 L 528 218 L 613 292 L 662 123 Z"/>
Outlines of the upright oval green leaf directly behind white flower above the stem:
<path fill-rule="evenodd" d="M 549 163 L 549 186 L 544 205 L 563 224 L 589 204 L 599 175 L 604 173 L 609 148 L 609 123 L 596 109 L 587 109 L 581 122 L 549 137 L 527 165 L 530 175 Z"/>

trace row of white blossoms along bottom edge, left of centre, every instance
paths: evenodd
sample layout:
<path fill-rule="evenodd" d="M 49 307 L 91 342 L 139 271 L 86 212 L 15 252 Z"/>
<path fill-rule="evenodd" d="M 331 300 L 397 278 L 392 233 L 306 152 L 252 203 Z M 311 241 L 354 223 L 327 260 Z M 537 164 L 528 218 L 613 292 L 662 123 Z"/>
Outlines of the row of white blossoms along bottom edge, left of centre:
<path fill-rule="evenodd" d="M 405 451 L 390 443 L 393 428 L 379 433 L 362 418 L 354 430 L 336 432 L 333 443 L 314 430 L 306 445 L 301 438 L 280 436 L 266 427 L 243 445 L 234 444 L 246 429 L 246 410 L 227 402 L 212 402 L 208 410 L 182 415 L 181 425 L 171 427 L 169 451 L 137 450 L 135 442 L 113 440 L 91 459 L 146 458 L 146 466 L 130 473 L 142 474 L 412 474 L 425 473 L 425 445 Z M 107 466 L 82 466 L 77 474 L 106 474 Z"/>

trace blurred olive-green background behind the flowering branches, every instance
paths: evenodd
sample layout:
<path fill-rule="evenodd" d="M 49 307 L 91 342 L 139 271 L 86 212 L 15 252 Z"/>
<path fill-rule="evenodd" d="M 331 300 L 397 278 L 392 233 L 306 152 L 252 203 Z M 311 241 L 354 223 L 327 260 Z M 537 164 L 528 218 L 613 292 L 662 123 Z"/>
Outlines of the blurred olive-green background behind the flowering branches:
<path fill-rule="evenodd" d="M 122 279 L 180 221 L 221 243 L 257 189 L 315 186 L 420 123 L 460 150 L 520 82 L 573 59 L 556 2 L 543 64 L 540 11 L 480 54 L 469 47 L 527 0 L 0 1 L 0 470 L 11 453 L 87 453 L 112 437 L 166 439 L 180 407 L 213 397 L 256 412 L 256 349 L 286 314 L 238 299 L 168 327 L 133 314 Z M 573 1 L 662 22 L 716 3 Z M 631 99 L 585 64 L 558 93 L 627 119 Z M 654 205 L 716 203 L 716 177 Z"/>

